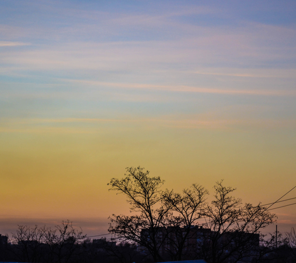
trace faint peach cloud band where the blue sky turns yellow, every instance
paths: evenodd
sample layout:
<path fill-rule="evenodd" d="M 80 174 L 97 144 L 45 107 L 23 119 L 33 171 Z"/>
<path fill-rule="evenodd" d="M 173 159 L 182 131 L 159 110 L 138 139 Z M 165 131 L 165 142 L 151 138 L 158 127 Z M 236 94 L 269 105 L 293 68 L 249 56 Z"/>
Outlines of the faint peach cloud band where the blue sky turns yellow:
<path fill-rule="evenodd" d="M 51 126 L 38 127 L 38 124 L 51 123 Z M 60 126 L 63 124 L 77 123 L 74 126 Z M 81 127 L 79 123 L 84 123 Z M 144 125 L 143 127 L 168 127 L 181 129 L 233 129 L 233 128 L 295 128 L 296 120 L 273 120 L 273 119 L 222 119 L 222 118 L 204 118 L 203 116 L 161 116 L 159 118 L 133 118 L 133 119 L 99 119 L 99 118 L 61 118 L 61 119 L 2 119 L 3 127 L 0 132 L 24 132 L 24 133 L 80 133 L 93 134 L 101 129 L 109 129 L 104 126 L 88 126 L 87 123 L 134 123 Z M 31 127 L 33 125 L 33 127 Z M 37 126 L 36 126 L 37 125 Z M 131 127 L 130 127 L 131 128 Z"/>

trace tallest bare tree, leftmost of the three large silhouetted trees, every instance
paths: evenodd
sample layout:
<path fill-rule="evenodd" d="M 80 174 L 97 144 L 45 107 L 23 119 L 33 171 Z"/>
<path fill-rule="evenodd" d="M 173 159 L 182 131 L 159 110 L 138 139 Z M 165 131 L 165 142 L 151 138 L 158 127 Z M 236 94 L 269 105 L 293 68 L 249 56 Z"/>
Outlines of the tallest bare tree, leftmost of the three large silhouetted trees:
<path fill-rule="evenodd" d="M 162 260 L 160 248 L 162 240 L 158 238 L 163 227 L 164 216 L 168 209 L 162 205 L 164 183 L 160 177 L 149 177 L 144 168 L 126 168 L 125 178 L 112 178 L 109 190 L 123 193 L 130 203 L 130 210 L 136 215 L 112 215 L 109 232 L 123 241 L 136 243 L 147 249 L 154 261 Z"/>

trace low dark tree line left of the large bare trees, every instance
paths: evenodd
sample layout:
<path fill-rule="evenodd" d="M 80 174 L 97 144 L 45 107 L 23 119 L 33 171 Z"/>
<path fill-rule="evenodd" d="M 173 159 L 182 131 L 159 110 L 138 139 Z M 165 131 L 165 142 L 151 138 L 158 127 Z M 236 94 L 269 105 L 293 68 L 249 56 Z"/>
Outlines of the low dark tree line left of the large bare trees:
<path fill-rule="evenodd" d="M 70 221 L 54 228 L 19 225 L 9 239 L 0 235 L 0 261 L 37 263 L 141 262 L 138 249 L 127 242 L 91 240 Z"/>

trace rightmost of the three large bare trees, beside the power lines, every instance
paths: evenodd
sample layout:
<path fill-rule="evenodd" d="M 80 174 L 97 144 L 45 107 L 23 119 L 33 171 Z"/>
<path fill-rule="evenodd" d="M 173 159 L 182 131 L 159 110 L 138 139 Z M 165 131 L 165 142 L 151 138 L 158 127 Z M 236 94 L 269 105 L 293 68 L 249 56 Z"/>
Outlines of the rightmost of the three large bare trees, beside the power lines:
<path fill-rule="evenodd" d="M 212 263 L 256 258 L 262 237 L 259 230 L 273 224 L 275 215 L 260 204 L 243 205 L 240 198 L 232 196 L 235 188 L 222 183 L 216 182 L 214 200 L 205 212 L 205 225 L 211 232 L 203 256 Z"/>

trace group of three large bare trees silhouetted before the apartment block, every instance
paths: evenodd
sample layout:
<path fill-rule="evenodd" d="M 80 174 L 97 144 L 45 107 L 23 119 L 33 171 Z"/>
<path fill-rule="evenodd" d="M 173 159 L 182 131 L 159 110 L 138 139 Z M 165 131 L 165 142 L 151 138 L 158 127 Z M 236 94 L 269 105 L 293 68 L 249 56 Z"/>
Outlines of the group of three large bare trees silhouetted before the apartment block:
<path fill-rule="evenodd" d="M 222 263 L 260 257 L 259 230 L 275 222 L 274 214 L 260 204 L 242 204 L 232 196 L 235 188 L 225 187 L 223 180 L 216 182 L 211 203 L 199 184 L 176 193 L 162 191 L 163 183 L 141 167 L 126 168 L 122 179 L 112 178 L 109 190 L 125 195 L 131 215 L 113 214 L 109 232 L 138 245 L 154 261 L 204 258 Z"/>

